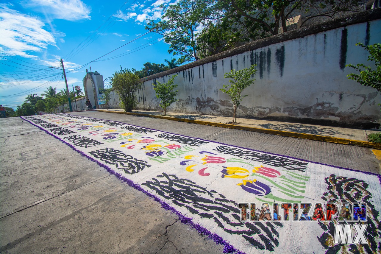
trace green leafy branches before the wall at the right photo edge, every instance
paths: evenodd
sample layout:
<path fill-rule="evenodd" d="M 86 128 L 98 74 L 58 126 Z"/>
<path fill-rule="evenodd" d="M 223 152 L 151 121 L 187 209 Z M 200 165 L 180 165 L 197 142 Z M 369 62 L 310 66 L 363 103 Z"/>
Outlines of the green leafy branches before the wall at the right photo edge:
<path fill-rule="evenodd" d="M 373 62 L 375 69 L 370 66 L 365 66 L 365 64 L 347 64 L 346 66 L 354 68 L 356 71 L 359 71 L 358 74 L 348 74 L 348 79 L 353 79 L 361 85 L 367 87 L 373 87 L 378 92 L 381 93 L 381 44 L 373 45 L 364 45 L 362 43 L 357 43 L 357 46 L 361 46 L 368 51 L 368 61 Z"/>

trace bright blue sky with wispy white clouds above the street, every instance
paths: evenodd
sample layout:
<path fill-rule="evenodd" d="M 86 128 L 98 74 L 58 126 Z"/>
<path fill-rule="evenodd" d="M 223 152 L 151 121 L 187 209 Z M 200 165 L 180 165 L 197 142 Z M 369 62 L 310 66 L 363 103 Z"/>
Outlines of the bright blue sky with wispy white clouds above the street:
<path fill-rule="evenodd" d="M 62 71 L 48 68 L 61 68 L 60 58 L 69 89 L 82 91 L 90 66 L 106 79 L 120 65 L 139 70 L 146 62 L 178 59 L 161 35 L 144 35 L 146 19 L 160 21 L 160 5 L 175 1 L 0 0 L 0 104 L 16 108 L 29 94 L 65 88 Z"/>

